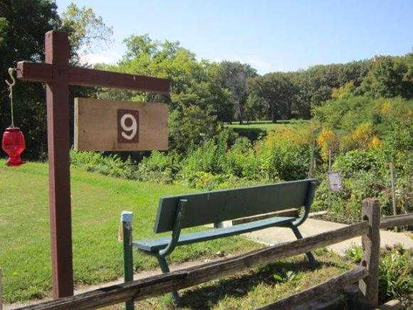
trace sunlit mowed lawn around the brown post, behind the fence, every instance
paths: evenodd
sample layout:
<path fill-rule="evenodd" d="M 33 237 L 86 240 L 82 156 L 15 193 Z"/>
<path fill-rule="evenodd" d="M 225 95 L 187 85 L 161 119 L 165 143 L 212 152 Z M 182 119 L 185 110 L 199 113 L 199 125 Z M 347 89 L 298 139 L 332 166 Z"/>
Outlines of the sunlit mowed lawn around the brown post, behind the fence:
<path fill-rule="evenodd" d="M 51 290 L 48 166 L 29 162 L 6 167 L 0 160 L 0 268 L 4 302 L 48 296 Z M 96 284 L 122 276 L 120 212 L 133 212 L 133 237 L 154 237 L 157 202 L 163 195 L 192 192 L 184 187 L 143 183 L 71 170 L 75 284 Z M 205 229 L 184 229 L 194 231 Z M 169 260 L 184 262 L 216 252 L 247 252 L 260 245 L 231 237 L 177 247 Z M 134 252 L 135 270 L 155 269 L 152 257 Z"/>

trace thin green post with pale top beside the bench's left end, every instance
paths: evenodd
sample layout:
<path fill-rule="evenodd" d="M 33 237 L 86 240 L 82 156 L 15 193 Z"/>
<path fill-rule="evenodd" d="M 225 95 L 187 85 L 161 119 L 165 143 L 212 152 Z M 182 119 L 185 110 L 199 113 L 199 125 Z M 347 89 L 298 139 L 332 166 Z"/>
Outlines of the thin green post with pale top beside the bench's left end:
<path fill-rule="evenodd" d="M 133 281 L 133 252 L 132 252 L 132 212 L 123 211 L 120 216 L 123 240 L 123 272 L 125 282 Z M 133 310 L 133 300 L 125 302 L 126 310 Z"/>

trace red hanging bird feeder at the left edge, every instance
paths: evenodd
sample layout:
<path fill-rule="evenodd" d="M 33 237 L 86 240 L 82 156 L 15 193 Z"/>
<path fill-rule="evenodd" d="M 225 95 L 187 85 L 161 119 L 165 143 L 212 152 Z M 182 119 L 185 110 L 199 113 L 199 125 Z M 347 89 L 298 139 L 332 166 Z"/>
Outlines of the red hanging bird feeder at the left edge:
<path fill-rule="evenodd" d="M 4 152 L 9 155 L 9 159 L 7 160 L 8 166 L 19 166 L 23 163 L 20 154 L 26 148 L 26 143 L 24 142 L 24 135 L 20 128 L 7 128 L 3 134 L 1 146 Z"/>

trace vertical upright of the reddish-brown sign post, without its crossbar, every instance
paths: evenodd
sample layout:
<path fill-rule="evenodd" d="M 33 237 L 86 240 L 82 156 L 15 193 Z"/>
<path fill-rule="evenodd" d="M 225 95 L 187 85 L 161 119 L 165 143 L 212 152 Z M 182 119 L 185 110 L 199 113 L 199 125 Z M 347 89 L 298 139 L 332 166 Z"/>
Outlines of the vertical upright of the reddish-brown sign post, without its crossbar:
<path fill-rule="evenodd" d="M 53 297 L 73 295 L 72 221 L 70 212 L 68 34 L 48 31 L 46 63 L 53 65 L 46 84 L 49 204 Z"/>

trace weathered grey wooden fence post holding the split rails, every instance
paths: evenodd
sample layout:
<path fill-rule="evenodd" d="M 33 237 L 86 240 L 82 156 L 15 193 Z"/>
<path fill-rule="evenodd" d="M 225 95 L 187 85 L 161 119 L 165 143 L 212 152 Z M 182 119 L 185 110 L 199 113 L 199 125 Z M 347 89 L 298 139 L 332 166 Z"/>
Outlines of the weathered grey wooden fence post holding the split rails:
<path fill-rule="evenodd" d="M 380 257 L 380 205 L 377 198 L 362 201 L 362 219 L 370 225 L 369 232 L 362 236 L 362 266 L 369 275 L 359 281 L 359 287 L 369 306 L 377 306 L 379 299 L 379 257 Z"/>

